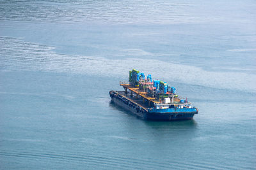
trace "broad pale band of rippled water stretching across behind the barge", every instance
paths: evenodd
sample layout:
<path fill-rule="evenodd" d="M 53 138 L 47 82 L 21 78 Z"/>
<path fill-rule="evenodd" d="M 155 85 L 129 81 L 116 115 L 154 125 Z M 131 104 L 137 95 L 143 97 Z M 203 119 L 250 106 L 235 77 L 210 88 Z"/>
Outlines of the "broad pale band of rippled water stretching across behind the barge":
<path fill-rule="evenodd" d="M 95 56 L 64 55 L 53 52 L 51 46 L 9 37 L 0 37 L 0 47 L 3 49 L 0 52 L 2 70 L 23 69 L 98 75 L 111 73 L 106 76 L 125 76 L 126 71 L 135 67 L 142 69 L 145 73 L 154 70 L 154 73 L 159 76 L 157 78 L 164 78 L 166 81 L 256 92 L 256 75 L 250 73 L 205 71 L 200 67 L 184 66 L 154 59 L 106 59 Z M 170 68 L 172 68 L 172 74 L 169 72 Z"/>

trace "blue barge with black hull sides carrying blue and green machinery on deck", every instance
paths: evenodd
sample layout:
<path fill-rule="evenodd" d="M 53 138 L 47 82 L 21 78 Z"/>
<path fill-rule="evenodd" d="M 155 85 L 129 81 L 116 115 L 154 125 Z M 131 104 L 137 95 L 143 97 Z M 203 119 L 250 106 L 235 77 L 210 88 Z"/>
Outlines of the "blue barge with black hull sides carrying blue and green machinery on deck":
<path fill-rule="evenodd" d="M 131 111 L 144 120 L 190 120 L 198 114 L 198 108 L 177 95 L 175 87 L 151 74 L 145 77 L 136 69 L 129 71 L 129 82 L 120 81 L 123 91 L 111 90 L 109 96 L 116 105 Z"/>

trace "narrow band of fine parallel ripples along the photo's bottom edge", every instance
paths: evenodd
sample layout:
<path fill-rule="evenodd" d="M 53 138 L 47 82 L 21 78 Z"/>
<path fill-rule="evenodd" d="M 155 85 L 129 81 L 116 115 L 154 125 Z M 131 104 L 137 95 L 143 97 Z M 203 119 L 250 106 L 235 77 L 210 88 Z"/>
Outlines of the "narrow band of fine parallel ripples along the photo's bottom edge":
<path fill-rule="evenodd" d="M 84 154 L 84 153 L 47 153 L 47 152 L 0 152 L 0 157 L 19 157 L 29 159 L 40 159 L 40 161 L 49 161 L 63 164 L 83 164 L 85 167 L 101 167 L 101 168 L 122 168 L 122 169 L 253 169 L 253 166 L 227 166 L 221 164 L 213 164 L 209 162 L 198 162 L 191 159 L 177 160 L 177 159 L 143 159 L 140 157 L 127 157 L 127 155 L 120 155 L 120 153 L 97 153 L 97 154 Z M 192 161 L 193 160 L 193 161 Z"/>

